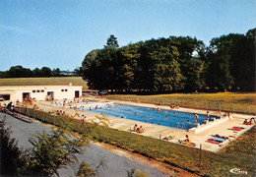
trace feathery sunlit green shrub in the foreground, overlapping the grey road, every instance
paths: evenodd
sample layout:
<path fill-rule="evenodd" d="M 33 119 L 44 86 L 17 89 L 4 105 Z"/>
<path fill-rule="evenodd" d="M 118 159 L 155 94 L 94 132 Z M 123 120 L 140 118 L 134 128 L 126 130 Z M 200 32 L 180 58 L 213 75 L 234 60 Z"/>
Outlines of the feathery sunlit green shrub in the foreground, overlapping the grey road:
<path fill-rule="evenodd" d="M 76 154 L 84 152 L 88 141 L 85 135 L 71 139 L 70 135 L 74 137 L 75 134 L 70 131 L 70 126 L 60 126 L 56 130 L 52 129 L 50 134 L 43 132 L 35 136 L 37 140 L 30 140 L 33 148 L 25 156 L 29 162 L 25 174 L 59 176 L 59 168 L 77 161 Z"/>

